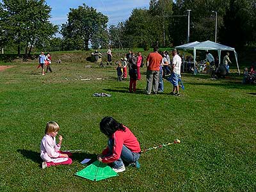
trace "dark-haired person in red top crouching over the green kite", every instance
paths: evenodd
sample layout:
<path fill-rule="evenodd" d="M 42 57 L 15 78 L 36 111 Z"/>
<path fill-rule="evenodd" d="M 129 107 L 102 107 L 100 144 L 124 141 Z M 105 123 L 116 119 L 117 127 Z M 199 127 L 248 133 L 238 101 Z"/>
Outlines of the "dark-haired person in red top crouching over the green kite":
<path fill-rule="evenodd" d="M 140 143 L 128 127 L 110 116 L 100 122 L 100 131 L 108 136 L 108 147 L 97 157 L 102 163 L 111 163 L 116 173 L 124 172 L 124 162 L 140 168 Z"/>

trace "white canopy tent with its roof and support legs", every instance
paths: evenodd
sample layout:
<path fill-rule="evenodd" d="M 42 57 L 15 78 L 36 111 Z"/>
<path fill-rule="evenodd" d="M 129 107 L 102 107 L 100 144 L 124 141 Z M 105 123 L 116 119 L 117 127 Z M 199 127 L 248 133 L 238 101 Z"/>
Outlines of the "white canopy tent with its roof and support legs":
<path fill-rule="evenodd" d="M 216 50 L 218 51 L 218 56 L 219 58 L 221 58 L 221 51 L 234 51 L 235 54 L 235 58 L 236 58 L 236 65 L 237 65 L 237 70 L 239 72 L 240 75 L 240 70 L 239 70 L 239 65 L 237 62 L 237 52 L 235 51 L 234 48 L 232 47 L 228 47 L 226 45 L 221 45 L 215 42 L 211 42 L 211 41 L 205 41 L 205 42 L 192 42 L 189 44 L 184 44 L 184 45 L 180 45 L 175 47 L 176 49 L 184 49 L 184 50 L 193 50 L 194 53 L 194 66 L 196 65 L 196 50 L 205 50 L 205 51 L 209 51 L 209 50 Z M 219 64 L 220 64 L 219 60 Z"/>

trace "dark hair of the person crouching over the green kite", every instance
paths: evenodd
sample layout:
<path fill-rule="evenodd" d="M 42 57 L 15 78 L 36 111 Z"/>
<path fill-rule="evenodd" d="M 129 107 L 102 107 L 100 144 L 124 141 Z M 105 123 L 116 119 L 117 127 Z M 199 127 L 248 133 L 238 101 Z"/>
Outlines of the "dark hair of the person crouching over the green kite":
<path fill-rule="evenodd" d="M 100 122 L 100 131 L 111 137 L 117 130 L 125 131 L 123 124 L 118 123 L 113 117 L 105 116 Z"/>

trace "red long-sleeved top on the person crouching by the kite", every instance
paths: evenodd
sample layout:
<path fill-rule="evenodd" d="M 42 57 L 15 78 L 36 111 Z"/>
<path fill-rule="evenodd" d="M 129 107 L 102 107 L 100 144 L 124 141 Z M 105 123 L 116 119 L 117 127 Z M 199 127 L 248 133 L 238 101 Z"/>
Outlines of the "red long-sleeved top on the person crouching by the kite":
<path fill-rule="evenodd" d="M 106 149 L 104 149 L 102 151 L 102 155 L 106 157 L 102 158 L 103 163 L 113 163 L 114 161 L 119 159 L 121 156 L 123 145 L 129 148 L 131 152 L 141 152 L 140 143 L 138 142 L 134 134 L 130 131 L 130 129 L 128 129 L 128 127 L 125 127 L 125 131 L 117 130 L 116 132 L 114 132 L 114 134 L 111 136 L 111 139 L 113 140 L 113 153 L 109 156 L 106 156 L 109 153 L 109 148 L 107 147 Z"/>

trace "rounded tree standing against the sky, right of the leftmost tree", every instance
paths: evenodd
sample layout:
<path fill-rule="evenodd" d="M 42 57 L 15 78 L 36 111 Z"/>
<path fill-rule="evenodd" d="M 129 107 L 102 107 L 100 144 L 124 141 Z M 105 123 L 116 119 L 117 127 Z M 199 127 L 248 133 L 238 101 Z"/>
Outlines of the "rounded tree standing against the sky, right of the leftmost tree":
<path fill-rule="evenodd" d="M 68 21 L 61 26 L 65 49 L 88 50 L 93 34 L 107 28 L 108 17 L 86 4 L 68 13 Z"/>

